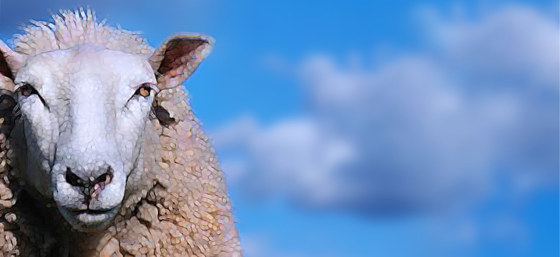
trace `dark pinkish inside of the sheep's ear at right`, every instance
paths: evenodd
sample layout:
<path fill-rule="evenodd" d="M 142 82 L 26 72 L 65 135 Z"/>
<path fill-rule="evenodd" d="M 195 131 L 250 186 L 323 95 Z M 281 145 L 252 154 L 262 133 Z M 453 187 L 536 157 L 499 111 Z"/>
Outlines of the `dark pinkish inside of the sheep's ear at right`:
<path fill-rule="evenodd" d="M 160 74 L 165 74 L 170 70 L 186 65 L 193 58 L 194 50 L 208 41 L 202 39 L 172 39 L 167 42 L 164 59 L 161 61 Z"/>

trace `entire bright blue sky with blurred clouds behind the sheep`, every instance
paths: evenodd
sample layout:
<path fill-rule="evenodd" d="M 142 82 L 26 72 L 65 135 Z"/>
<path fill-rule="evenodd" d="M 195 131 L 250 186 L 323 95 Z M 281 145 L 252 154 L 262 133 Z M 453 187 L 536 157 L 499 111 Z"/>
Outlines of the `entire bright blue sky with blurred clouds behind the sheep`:
<path fill-rule="evenodd" d="M 212 35 L 185 85 L 248 257 L 558 256 L 557 2 L 166 3 L 5 1 L 0 37 L 78 4 Z"/>

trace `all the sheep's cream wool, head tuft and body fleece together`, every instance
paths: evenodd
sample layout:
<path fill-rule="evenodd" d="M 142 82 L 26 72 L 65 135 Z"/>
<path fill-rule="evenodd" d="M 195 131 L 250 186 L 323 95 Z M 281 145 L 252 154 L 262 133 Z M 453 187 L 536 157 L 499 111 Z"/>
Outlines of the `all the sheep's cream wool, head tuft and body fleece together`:
<path fill-rule="evenodd" d="M 66 14 L 65 14 L 66 13 Z M 83 17 L 93 17 L 89 15 Z M 90 21 L 72 18 L 72 12 L 64 12 L 74 25 Z M 76 12 L 76 17 L 80 16 Z M 56 21 L 56 18 L 55 18 Z M 66 22 L 61 20 L 60 22 Z M 56 25 L 57 23 L 55 23 Z M 63 23 L 60 23 L 63 24 Z M 75 28 L 72 23 L 65 26 Z M 97 24 L 97 23 L 95 23 Z M 54 26 L 59 34 L 45 34 L 41 26 L 27 28 L 27 34 L 16 37 L 16 51 L 38 54 L 55 49 L 47 44 L 46 37 L 63 38 L 65 28 Z M 94 26 L 94 25 L 91 25 Z M 94 27 L 96 27 L 95 25 Z M 68 41 L 58 40 L 63 47 L 96 40 L 109 42 L 110 37 L 99 35 L 122 35 L 105 25 L 101 34 L 82 34 Z M 52 26 L 51 26 L 52 27 Z M 79 26 L 78 26 L 79 27 Z M 84 26 L 87 27 L 87 26 Z M 31 32 L 30 32 L 31 31 Z M 43 31 L 43 32 L 38 32 Z M 108 31 L 108 32 L 103 32 Z M 103 34 L 105 33 L 105 34 Z M 126 33 L 125 33 L 126 34 Z M 78 35 L 78 34 L 76 34 Z M 83 37 L 86 35 L 86 37 Z M 127 34 L 133 35 L 133 34 Z M 58 38 L 57 38 L 58 39 Z M 128 40 L 130 39 L 130 40 Z M 129 53 L 144 54 L 149 46 L 134 36 L 123 36 L 129 44 Z M 128 40 L 128 41 L 127 41 Z M 75 42 L 74 42 L 75 41 Z M 50 48 L 49 48 L 50 47 Z M 108 46 L 109 47 L 109 46 Z M 11 91 L 13 84 L 3 78 L 2 89 Z M 112 225 L 100 232 L 89 234 L 69 229 L 67 223 L 57 215 L 56 208 L 45 201 L 44 210 L 52 211 L 50 220 L 37 217 L 38 212 L 18 201 L 17 149 L 12 149 L 10 134 L 2 126 L 0 131 L 0 254 L 2 256 L 241 256 L 239 237 L 231 213 L 223 173 L 209 144 L 209 139 L 200 128 L 188 104 L 183 87 L 161 91 L 156 96 L 159 106 L 164 107 L 175 123 L 162 126 L 157 118 L 146 126 L 148 150 L 144 152 L 144 172 L 141 183 L 128 183 L 123 206 Z M 2 124 L 6 123 L 0 118 Z M 133 174 L 131 174 L 131 177 Z M 130 182 L 129 178 L 129 182 Z M 39 209 L 43 210 L 43 209 Z M 70 247 L 71 246 L 71 247 Z M 69 250 L 67 250 L 69 249 Z"/>

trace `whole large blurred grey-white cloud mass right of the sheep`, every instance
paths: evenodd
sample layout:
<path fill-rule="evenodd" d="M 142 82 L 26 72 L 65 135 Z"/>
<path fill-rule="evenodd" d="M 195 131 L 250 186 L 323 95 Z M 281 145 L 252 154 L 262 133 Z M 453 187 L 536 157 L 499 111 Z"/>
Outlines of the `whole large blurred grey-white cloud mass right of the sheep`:
<path fill-rule="evenodd" d="M 231 182 L 371 214 L 474 201 L 497 179 L 521 195 L 557 185 L 556 17 L 508 7 L 474 21 L 424 20 L 423 53 L 376 69 L 310 56 L 296 69 L 306 113 L 215 131 Z"/>

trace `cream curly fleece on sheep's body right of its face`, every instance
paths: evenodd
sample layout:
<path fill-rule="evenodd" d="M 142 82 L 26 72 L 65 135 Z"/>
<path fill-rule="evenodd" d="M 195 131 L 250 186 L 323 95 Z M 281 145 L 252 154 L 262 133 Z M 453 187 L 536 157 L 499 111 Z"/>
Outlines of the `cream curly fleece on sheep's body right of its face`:
<path fill-rule="evenodd" d="M 240 256 L 223 174 L 208 137 L 183 89 L 158 96 L 158 103 L 179 121 L 169 127 L 152 122 L 160 140 L 161 171 L 147 170 L 151 187 L 143 191 L 142 201 L 136 204 L 133 196 L 125 201 L 137 206 L 136 215 L 117 217 L 108 229 L 108 243 L 97 249 L 101 256 L 111 256 L 113 249 L 123 256 Z"/>

